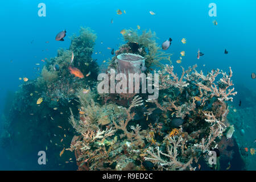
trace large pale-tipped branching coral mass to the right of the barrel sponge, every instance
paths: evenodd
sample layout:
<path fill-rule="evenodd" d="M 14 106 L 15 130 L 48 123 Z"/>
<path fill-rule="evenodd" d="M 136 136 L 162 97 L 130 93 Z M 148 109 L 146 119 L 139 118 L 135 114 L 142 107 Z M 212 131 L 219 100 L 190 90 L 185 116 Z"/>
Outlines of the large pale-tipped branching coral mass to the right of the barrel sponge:
<path fill-rule="evenodd" d="M 177 137 L 183 136 L 186 138 L 184 142 L 187 149 L 177 149 L 181 156 L 186 156 L 187 158 L 187 160 L 182 160 L 183 165 L 188 164 L 187 162 L 191 158 L 194 158 L 196 161 L 199 160 L 201 154 L 207 154 L 211 148 L 217 147 L 216 141 L 221 138 L 226 127 L 229 125 L 226 121 L 229 109 L 224 101 L 232 101 L 230 95 L 236 94 L 236 92 L 233 92 L 233 89 L 226 92 L 229 86 L 233 85 L 230 80 L 232 77 L 231 69 L 229 75 L 217 70 L 204 76 L 202 71 L 198 73 L 195 68 L 196 65 L 192 68 L 189 67 L 187 71 L 182 68 L 183 72 L 179 78 L 174 73 L 174 67 L 166 65 L 164 71 L 158 72 L 160 74 L 159 90 L 164 92 L 163 95 L 165 96 L 160 97 L 158 100 L 147 100 L 148 104 L 153 104 L 146 112 L 147 114 L 154 113 L 156 109 L 162 110 L 163 118 L 160 119 L 164 121 L 164 134 L 167 135 L 167 138 L 170 138 L 170 135 L 173 137 L 175 133 L 170 133 L 170 131 L 174 131 L 172 121 L 176 117 L 184 119 L 180 126 L 182 132 L 175 133 Z M 216 84 L 216 77 L 219 74 L 223 77 Z M 166 139 L 159 139 L 159 137 L 154 133 L 152 146 L 155 143 L 162 146 L 166 142 Z M 155 138 L 158 139 L 155 140 Z M 172 142 L 174 142 L 173 140 Z M 155 153 L 152 147 L 148 148 L 148 154 L 151 155 L 151 158 L 147 157 L 146 159 L 150 159 L 158 168 L 163 169 L 163 164 L 167 165 L 167 162 L 160 158 L 160 154 L 164 155 L 166 153 L 164 153 L 163 147 L 155 149 L 157 153 Z M 168 148 L 167 151 L 170 152 Z M 171 151 L 168 157 L 171 155 L 174 155 L 174 151 Z M 177 155 L 172 157 L 176 158 Z M 171 160 L 176 162 L 174 158 L 171 158 Z M 168 164 L 171 168 L 165 167 L 164 169 L 175 169 L 173 163 Z M 172 168 L 173 166 L 174 168 Z"/>

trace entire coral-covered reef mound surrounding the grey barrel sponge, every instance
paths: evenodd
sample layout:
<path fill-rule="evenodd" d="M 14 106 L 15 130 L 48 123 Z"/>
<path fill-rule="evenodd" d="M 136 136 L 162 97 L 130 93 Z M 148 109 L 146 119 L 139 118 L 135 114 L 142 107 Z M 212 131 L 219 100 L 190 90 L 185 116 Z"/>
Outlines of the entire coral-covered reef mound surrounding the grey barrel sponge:
<path fill-rule="evenodd" d="M 118 73 L 118 56 L 123 53 L 135 55 L 128 61 L 144 58 L 143 72 L 159 75 L 159 86 L 153 85 L 159 97 L 98 94 L 99 68 L 91 57 L 96 38 L 90 28 L 81 28 L 79 36 L 71 37 L 68 50 L 60 49 L 47 61 L 40 77 L 21 85 L 5 119 L 3 142 L 15 141 L 17 150 L 29 154 L 46 148 L 53 154 L 51 159 L 56 158 L 52 166 L 64 168 L 76 160 L 79 170 L 195 170 L 214 148 L 232 158 L 225 152 L 233 138 L 227 144 L 223 137 L 230 127 L 228 102 L 237 94 L 230 89 L 231 68 L 229 73 L 217 69 L 204 75 L 194 65 L 187 70 L 181 67 L 178 76 L 171 55 L 156 44 L 155 33 L 126 30 L 126 43 L 115 51 L 106 73 L 109 77 L 110 69 Z M 85 77 L 74 77 L 69 67 Z M 38 98 L 43 102 L 37 103 Z M 33 149 L 35 144 L 38 147 Z"/>

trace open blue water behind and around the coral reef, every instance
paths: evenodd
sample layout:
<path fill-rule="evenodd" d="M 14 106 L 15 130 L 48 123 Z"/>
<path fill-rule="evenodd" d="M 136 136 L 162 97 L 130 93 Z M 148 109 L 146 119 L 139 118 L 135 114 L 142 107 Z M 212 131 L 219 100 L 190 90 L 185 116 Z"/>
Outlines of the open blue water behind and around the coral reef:
<path fill-rule="evenodd" d="M 39 3 L 46 4 L 46 17 L 38 16 Z M 208 15 L 209 3 L 216 3 L 216 17 Z M 225 170 L 230 163 L 229 169 L 255 170 L 255 155 L 250 154 L 250 148 L 256 147 L 256 80 L 251 77 L 251 73 L 256 72 L 255 6 L 254 0 L 2 1 L 0 6 L 2 68 L 0 72 L 2 83 L 0 133 L 5 130 L 4 122 L 15 100 L 14 93 L 21 89 L 19 85 L 23 84 L 23 78 L 26 77 L 29 80 L 38 78 L 44 65 L 47 64 L 41 60 L 46 58 L 49 60 L 57 56 L 57 50 L 60 48 L 68 49 L 71 45 L 69 37 L 73 34 L 79 35 L 81 26 L 90 27 L 97 34 L 92 59 L 97 59 L 96 62 L 101 65 L 104 60 L 112 59 L 113 55 L 108 47 L 117 50 L 121 44 L 125 43 L 120 32 L 129 28 L 136 30 L 139 25 L 141 27 L 138 30 L 139 34 L 143 30 L 156 33 L 158 37 L 156 43 L 159 46 L 165 40 L 172 38 L 172 44 L 165 52 L 172 54 L 172 64 L 178 75 L 182 72 L 180 65 L 188 68 L 197 64 L 197 69 L 202 69 L 204 73 L 217 68 L 228 72 L 229 67 L 232 68 L 232 80 L 237 95 L 233 96 L 233 102 L 229 101 L 231 109 L 229 109 L 228 119 L 234 125 L 233 138 L 236 138 L 238 146 L 234 144 L 236 147 L 233 158 L 225 159 L 221 169 Z M 118 9 L 125 10 L 126 13 L 118 15 Z M 149 11 L 154 11 L 155 15 L 151 15 Z M 213 24 L 214 20 L 217 21 L 217 25 Z M 67 31 L 65 41 L 56 41 L 57 32 L 62 30 Z M 186 44 L 181 43 L 183 38 L 187 39 Z M 197 59 L 199 49 L 204 56 Z M 228 51 L 226 55 L 225 49 Z M 185 51 L 185 56 L 179 64 L 176 60 L 179 60 L 181 51 Z M 101 53 L 96 54 L 96 52 Z M 38 63 L 40 65 L 36 65 Z M 90 66 L 93 70 L 93 65 Z M 97 75 L 97 73 L 92 74 Z M 239 106 L 240 101 L 241 106 Z M 25 106 L 23 109 L 22 112 L 30 112 Z M 13 129 L 13 132 L 18 133 L 19 128 Z M 37 163 L 36 153 L 20 154 L 18 148 L 12 147 L 10 155 L 10 150 L 6 148 L 8 147 L 0 148 L 1 170 L 77 169 L 75 163 L 42 167 Z M 244 148 L 248 148 L 249 151 L 246 152 Z M 60 152 L 59 148 L 53 151 L 57 154 Z M 19 158 L 26 158 L 26 162 L 20 162 Z M 54 160 L 54 156 L 51 156 L 51 160 Z M 205 169 L 210 168 L 205 167 Z"/>

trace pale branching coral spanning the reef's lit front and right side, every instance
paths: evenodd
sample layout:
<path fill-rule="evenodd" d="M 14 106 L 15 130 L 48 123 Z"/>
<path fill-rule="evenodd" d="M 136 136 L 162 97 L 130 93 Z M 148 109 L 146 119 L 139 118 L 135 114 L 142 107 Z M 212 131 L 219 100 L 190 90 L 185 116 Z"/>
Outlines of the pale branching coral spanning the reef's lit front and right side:
<path fill-rule="evenodd" d="M 233 92 L 233 89 L 226 91 L 233 85 L 230 80 L 231 69 L 229 75 L 217 70 L 207 76 L 204 76 L 203 72 L 197 72 L 196 65 L 187 71 L 182 69 L 180 78 L 170 65 L 158 71 L 159 90 L 162 93 L 158 100 L 143 100 L 137 95 L 127 107 L 115 104 L 125 111 L 125 118 L 110 119 L 106 122 L 106 128 L 98 122 L 100 113 L 106 113 L 102 111 L 102 107 L 106 106 L 95 106 L 92 101 L 92 106 L 89 104 L 89 107 L 95 108 L 93 112 L 85 111 L 85 117 L 81 119 L 80 115 L 79 122 L 71 119 L 72 123 L 80 123 L 74 127 L 82 138 L 72 144 L 70 150 L 79 151 L 79 161 L 86 160 L 88 169 L 106 169 L 104 166 L 108 166 L 108 169 L 122 169 L 118 163 L 122 160 L 126 161 L 127 165 L 138 163 L 139 169 L 145 169 L 144 162 L 150 161 L 154 164 L 154 169 L 194 170 L 194 162 L 197 163 L 201 156 L 218 147 L 217 142 L 229 126 L 226 121 L 229 109 L 225 102 L 232 101 L 230 96 L 234 96 L 236 92 Z M 216 81 L 219 74 L 223 77 Z M 141 123 L 147 122 L 148 126 L 143 126 L 142 129 L 142 126 L 134 122 L 137 111 L 132 112 L 132 109 L 146 104 L 144 115 L 147 117 L 140 120 Z M 160 110 L 156 120 L 148 119 L 148 115 L 155 115 L 156 110 Z M 97 113 L 98 117 L 92 113 Z M 85 129 L 81 130 L 78 126 Z M 105 137 L 104 134 L 109 131 L 113 131 L 112 135 Z M 100 144 L 95 140 L 97 135 L 101 135 Z M 109 142 L 115 143 L 114 146 L 119 148 L 109 149 Z"/>

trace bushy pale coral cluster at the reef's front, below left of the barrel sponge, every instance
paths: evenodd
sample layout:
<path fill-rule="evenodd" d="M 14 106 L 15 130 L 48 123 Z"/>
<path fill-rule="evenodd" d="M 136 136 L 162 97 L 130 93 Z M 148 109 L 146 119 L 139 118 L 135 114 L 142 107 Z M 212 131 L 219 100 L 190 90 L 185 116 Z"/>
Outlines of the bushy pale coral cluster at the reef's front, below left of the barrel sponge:
<path fill-rule="evenodd" d="M 92 100 L 83 109 L 85 114 L 80 114 L 79 121 L 75 119 L 71 110 L 69 122 L 77 133 L 81 134 L 81 139 L 73 142 L 68 150 L 75 150 L 76 154 L 79 154 L 77 162 L 80 165 L 85 165 L 84 163 L 86 163 L 89 169 L 104 169 L 104 165 L 118 162 L 115 164 L 115 169 L 117 170 L 122 169 L 119 163 L 120 160 L 129 161 L 128 163 L 134 162 L 134 159 L 137 158 L 136 156 L 139 155 L 138 146 L 144 146 L 144 137 L 141 126 L 130 126 L 131 131 L 128 131 L 127 125 L 134 116 L 134 114 L 130 113 L 131 109 L 141 104 L 141 98 L 134 97 L 131 106 L 128 109 L 123 108 L 125 113 L 121 114 L 121 108 L 116 105 L 110 104 L 100 107 Z M 108 110 L 105 110 L 110 106 L 113 107 L 114 113 L 108 113 Z M 108 119 L 110 119 L 104 129 L 99 127 L 102 125 L 101 114 L 107 114 L 109 116 Z M 113 117 L 110 117 L 110 115 Z M 126 118 L 125 121 L 121 121 L 123 118 Z M 123 133 L 118 130 L 122 130 Z M 122 138 L 122 140 L 118 140 L 118 138 Z M 122 154 L 123 151 L 126 156 Z"/>

